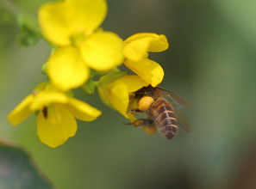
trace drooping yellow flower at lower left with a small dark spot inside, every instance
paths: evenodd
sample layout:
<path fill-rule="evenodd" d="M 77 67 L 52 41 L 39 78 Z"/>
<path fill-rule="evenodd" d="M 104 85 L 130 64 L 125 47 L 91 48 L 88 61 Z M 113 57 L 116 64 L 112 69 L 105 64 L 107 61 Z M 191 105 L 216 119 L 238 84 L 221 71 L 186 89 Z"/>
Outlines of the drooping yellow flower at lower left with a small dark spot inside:
<path fill-rule="evenodd" d="M 37 134 L 42 143 L 55 148 L 77 131 L 76 119 L 92 121 L 101 114 L 96 108 L 41 83 L 8 115 L 12 125 L 19 125 L 36 112 Z"/>

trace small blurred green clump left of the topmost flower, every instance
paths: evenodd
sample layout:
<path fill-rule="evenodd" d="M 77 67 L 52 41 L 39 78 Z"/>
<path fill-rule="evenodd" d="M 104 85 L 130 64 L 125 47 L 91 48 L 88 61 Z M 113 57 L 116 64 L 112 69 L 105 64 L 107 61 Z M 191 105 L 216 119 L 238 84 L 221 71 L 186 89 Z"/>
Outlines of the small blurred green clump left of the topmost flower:
<path fill-rule="evenodd" d="M 33 15 L 18 15 L 20 34 L 18 41 L 22 46 L 34 46 L 41 39 L 38 22 Z"/>

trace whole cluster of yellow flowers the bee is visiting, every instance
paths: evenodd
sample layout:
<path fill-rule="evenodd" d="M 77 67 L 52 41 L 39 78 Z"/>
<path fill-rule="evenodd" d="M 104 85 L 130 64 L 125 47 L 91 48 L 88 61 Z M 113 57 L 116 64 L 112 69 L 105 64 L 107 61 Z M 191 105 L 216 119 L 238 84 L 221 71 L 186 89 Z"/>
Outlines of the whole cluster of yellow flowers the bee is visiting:
<path fill-rule="evenodd" d="M 72 94 L 73 88 L 91 82 L 91 70 L 103 75 L 92 82 L 102 101 L 134 119 L 128 113 L 131 94 L 148 85 L 157 86 L 164 76 L 161 66 L 148 58 L 148 52 L 165 51 L 168 42 L 165 35 L 153 33 L 122 40 L 99 27 L 106 13 L 105 0 L 64 0 L 41 6 L 41 33 L 55 46 L 44 66 L 49 81 L 40 83 L 9 113 L 12 125 L 19 125 L 35 112 L 41 142 L 53 148 L 65 143 L 77 131 L 76 119 L 92 121 L 101 115 Z M 121 64 L 135 75 L 118 70 Z"/>

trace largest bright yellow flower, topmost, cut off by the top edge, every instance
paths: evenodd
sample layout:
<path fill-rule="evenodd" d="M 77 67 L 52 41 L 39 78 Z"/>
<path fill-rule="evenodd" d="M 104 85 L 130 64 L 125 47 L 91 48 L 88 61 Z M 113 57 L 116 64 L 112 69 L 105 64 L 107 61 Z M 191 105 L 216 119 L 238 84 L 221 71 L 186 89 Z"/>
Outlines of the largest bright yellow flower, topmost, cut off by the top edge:
<path fill-rule="evenodd" d="M 59 89 L 81 86 L 89 68 L 109 70 L 122 64 L 123 41 L 98 28 L 106 13 L 104 0 L 64 0 L 39 9 L 42 34 L 59 46 L 47 63 L 47 74 Z"/>

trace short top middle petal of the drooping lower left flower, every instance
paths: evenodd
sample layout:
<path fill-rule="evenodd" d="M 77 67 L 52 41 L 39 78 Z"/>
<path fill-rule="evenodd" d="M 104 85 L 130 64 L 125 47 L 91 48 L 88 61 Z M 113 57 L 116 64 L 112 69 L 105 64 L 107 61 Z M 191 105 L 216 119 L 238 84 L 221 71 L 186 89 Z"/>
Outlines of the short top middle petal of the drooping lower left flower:
<path fill-rule="evenodd" d="M 34 99 L 31 102 L 30 109 L 32 111 L 41 110 L 43 107 L 48 107 L 51 104 L 65 104 L 68 97 L 64 93 L 57 91 L 40 91 L 34 94 Z"/>

